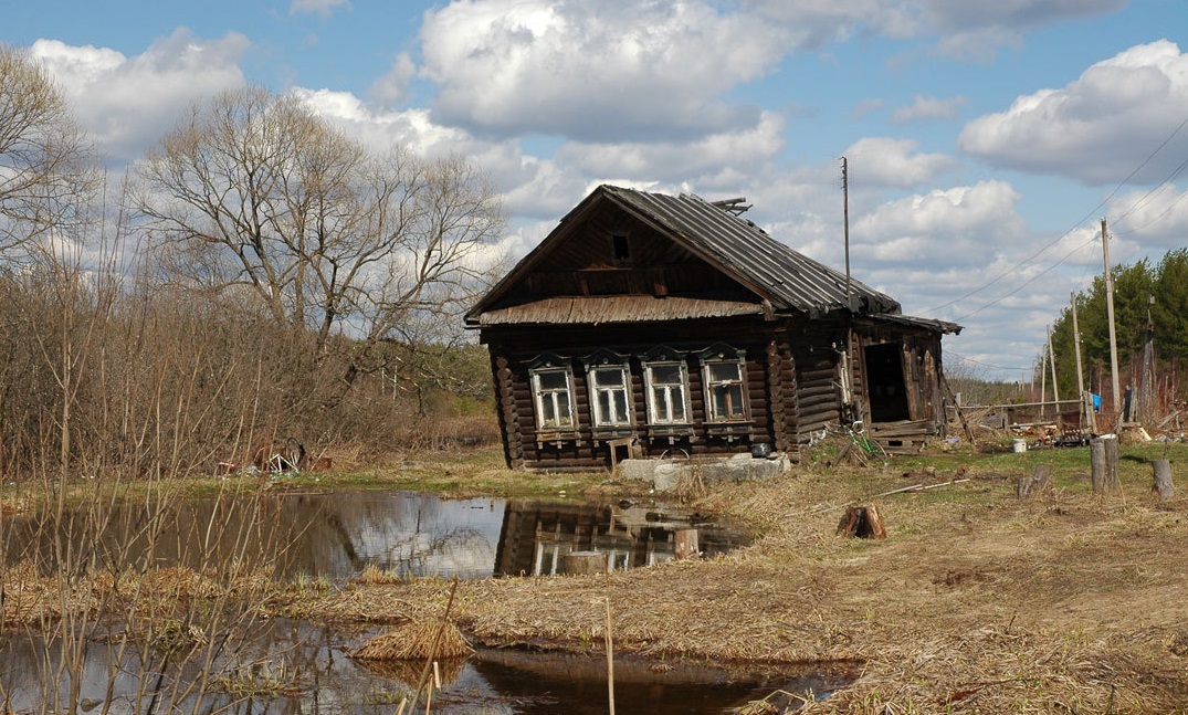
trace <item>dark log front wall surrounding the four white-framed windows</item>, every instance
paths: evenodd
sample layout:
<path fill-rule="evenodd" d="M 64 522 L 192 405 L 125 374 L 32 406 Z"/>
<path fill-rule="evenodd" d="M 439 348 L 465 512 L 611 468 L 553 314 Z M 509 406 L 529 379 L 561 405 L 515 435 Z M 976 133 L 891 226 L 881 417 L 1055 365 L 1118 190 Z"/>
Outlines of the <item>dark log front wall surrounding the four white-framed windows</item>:
<path fill-rule="evenodd" d="M 595 435 L 583 359 L 600 349 L 631 356 L 631 400 L 636 438 L 643 456 L 689 456 L 747 451 L 765 442 L 786 449 L 796 441 L 796 385 L 792 349 L 778 323 L 762 319 L 723 324 L 688 321 L 665 325 L 611 328 L 486 329 L 482 336 L 492 354 L 499 424 L 505 436 L 505 457 L 516 469 L 579 472 L 608 467 L 609 438 Z M 746 352 L 745 372 L 750 424 L 721 434 L 706 423 L 706 396 L 701 363 L 695 353 L 714 343 Z M 545 349 L 545 346 L 548 349 Z M 647 403 L 640 355 L 664 346 L 685 354 L 689 375 L 690 436 L 647 436 Z M 562 359 L 574 379 L 576 434 L 556 437 L 538 432 L 530 367 L 543 353 Z"/>

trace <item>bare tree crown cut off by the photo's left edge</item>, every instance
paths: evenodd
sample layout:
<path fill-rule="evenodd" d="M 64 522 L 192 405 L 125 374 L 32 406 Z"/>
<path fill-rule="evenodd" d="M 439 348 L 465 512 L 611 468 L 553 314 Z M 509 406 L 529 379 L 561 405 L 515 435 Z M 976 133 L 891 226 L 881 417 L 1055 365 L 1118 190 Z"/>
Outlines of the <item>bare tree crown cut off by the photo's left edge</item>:
<path fill-rule="evenodd" d="M 0 45 L 0 252 L 36 246 L 88 208 L 91 150 L 45 70 Z"/>

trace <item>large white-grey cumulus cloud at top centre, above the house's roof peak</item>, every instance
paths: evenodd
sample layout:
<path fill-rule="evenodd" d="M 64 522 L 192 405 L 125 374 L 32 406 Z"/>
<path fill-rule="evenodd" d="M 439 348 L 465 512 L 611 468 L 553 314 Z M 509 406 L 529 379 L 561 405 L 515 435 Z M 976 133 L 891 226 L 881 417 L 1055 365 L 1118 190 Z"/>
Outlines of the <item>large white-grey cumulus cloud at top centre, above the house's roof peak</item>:
<path fill-rule="evenodd" d="M 421 32 L 442 124 L 587 141 L 753 126 L 722 93 L 769 71 L 788 33 L 703 1 L 455 0 Z"/>

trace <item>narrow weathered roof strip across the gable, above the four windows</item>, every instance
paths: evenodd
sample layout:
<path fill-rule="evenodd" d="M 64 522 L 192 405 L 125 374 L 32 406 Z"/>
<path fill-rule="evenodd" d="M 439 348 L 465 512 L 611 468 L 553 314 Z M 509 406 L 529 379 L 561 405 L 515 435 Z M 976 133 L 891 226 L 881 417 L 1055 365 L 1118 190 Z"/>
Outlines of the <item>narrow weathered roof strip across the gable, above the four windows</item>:
<path fill-rule="evenodd" d="M 596 296 L 548 298 L 513 308 L 488 310 L 479 316 L 480 325 L 598 325 L 688 321 L 740 315 L 763 315 L 756 303 L 657 298 L 653 296 Z"/>

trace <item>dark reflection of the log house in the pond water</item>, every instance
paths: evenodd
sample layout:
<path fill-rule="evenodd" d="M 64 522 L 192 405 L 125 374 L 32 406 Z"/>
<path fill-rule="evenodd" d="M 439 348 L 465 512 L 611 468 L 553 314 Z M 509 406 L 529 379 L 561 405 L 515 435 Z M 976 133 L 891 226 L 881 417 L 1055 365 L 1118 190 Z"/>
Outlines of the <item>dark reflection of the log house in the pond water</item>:
<path fill-rule="evenodd" d="M 702 553 L 723 553 L 748 539 L 696 517 L 642 506 L 510 501 L 495 550 L 497 576 L 564 572 L 565 555 L 599 551 L 615 569 L 652 565 L 676 553 L 676 532 L 697 529 Z"/>

